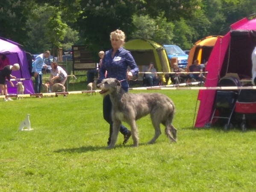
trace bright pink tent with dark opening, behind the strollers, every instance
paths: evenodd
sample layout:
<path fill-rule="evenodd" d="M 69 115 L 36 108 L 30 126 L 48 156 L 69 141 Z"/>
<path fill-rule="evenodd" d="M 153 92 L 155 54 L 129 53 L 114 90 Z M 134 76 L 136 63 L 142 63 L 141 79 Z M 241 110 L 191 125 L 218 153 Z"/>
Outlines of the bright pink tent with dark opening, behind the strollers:
<path fill-rule="evenodd" d="M 237 73 L 240 79 L 251 78 L 251 54 L 256 46 L 256 18 L 244 18 L 231 25 L 223 38 L 218 38 L 209 57 L 205 86 L 216 87 L 227 73 Z M 200 105 L 195 127 L 200 128 L 210 121 L 216 90 L 200 90 Z"/>

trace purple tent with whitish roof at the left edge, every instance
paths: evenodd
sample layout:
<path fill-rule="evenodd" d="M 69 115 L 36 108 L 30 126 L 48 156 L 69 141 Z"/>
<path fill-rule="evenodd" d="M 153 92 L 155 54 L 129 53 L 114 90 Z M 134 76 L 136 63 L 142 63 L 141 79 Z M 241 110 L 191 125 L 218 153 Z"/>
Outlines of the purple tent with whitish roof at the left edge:
<path fill-rule="evenodd" d="M 5 53 L 7 58 L 9 58 L 10 64 L 18 63 L 20 64 L 20 70 L 13 71 L 12 75 L 18 79 L 26 79 L 22 80 L 24 84 L 24 94 L 33 94 L 33 82 L 29 73 L 29 64 L 26 58 L 26 52 L 23 51 L 19 44 L 4 38 L 0 38 L 0 52 Z M 13 81 L 13 84 L 16 84 L 16 81 Z M 11 87 L 9 82 L 7 82 L 7 88 L 9 94 L 16 94 L 17 87 Z"/>

